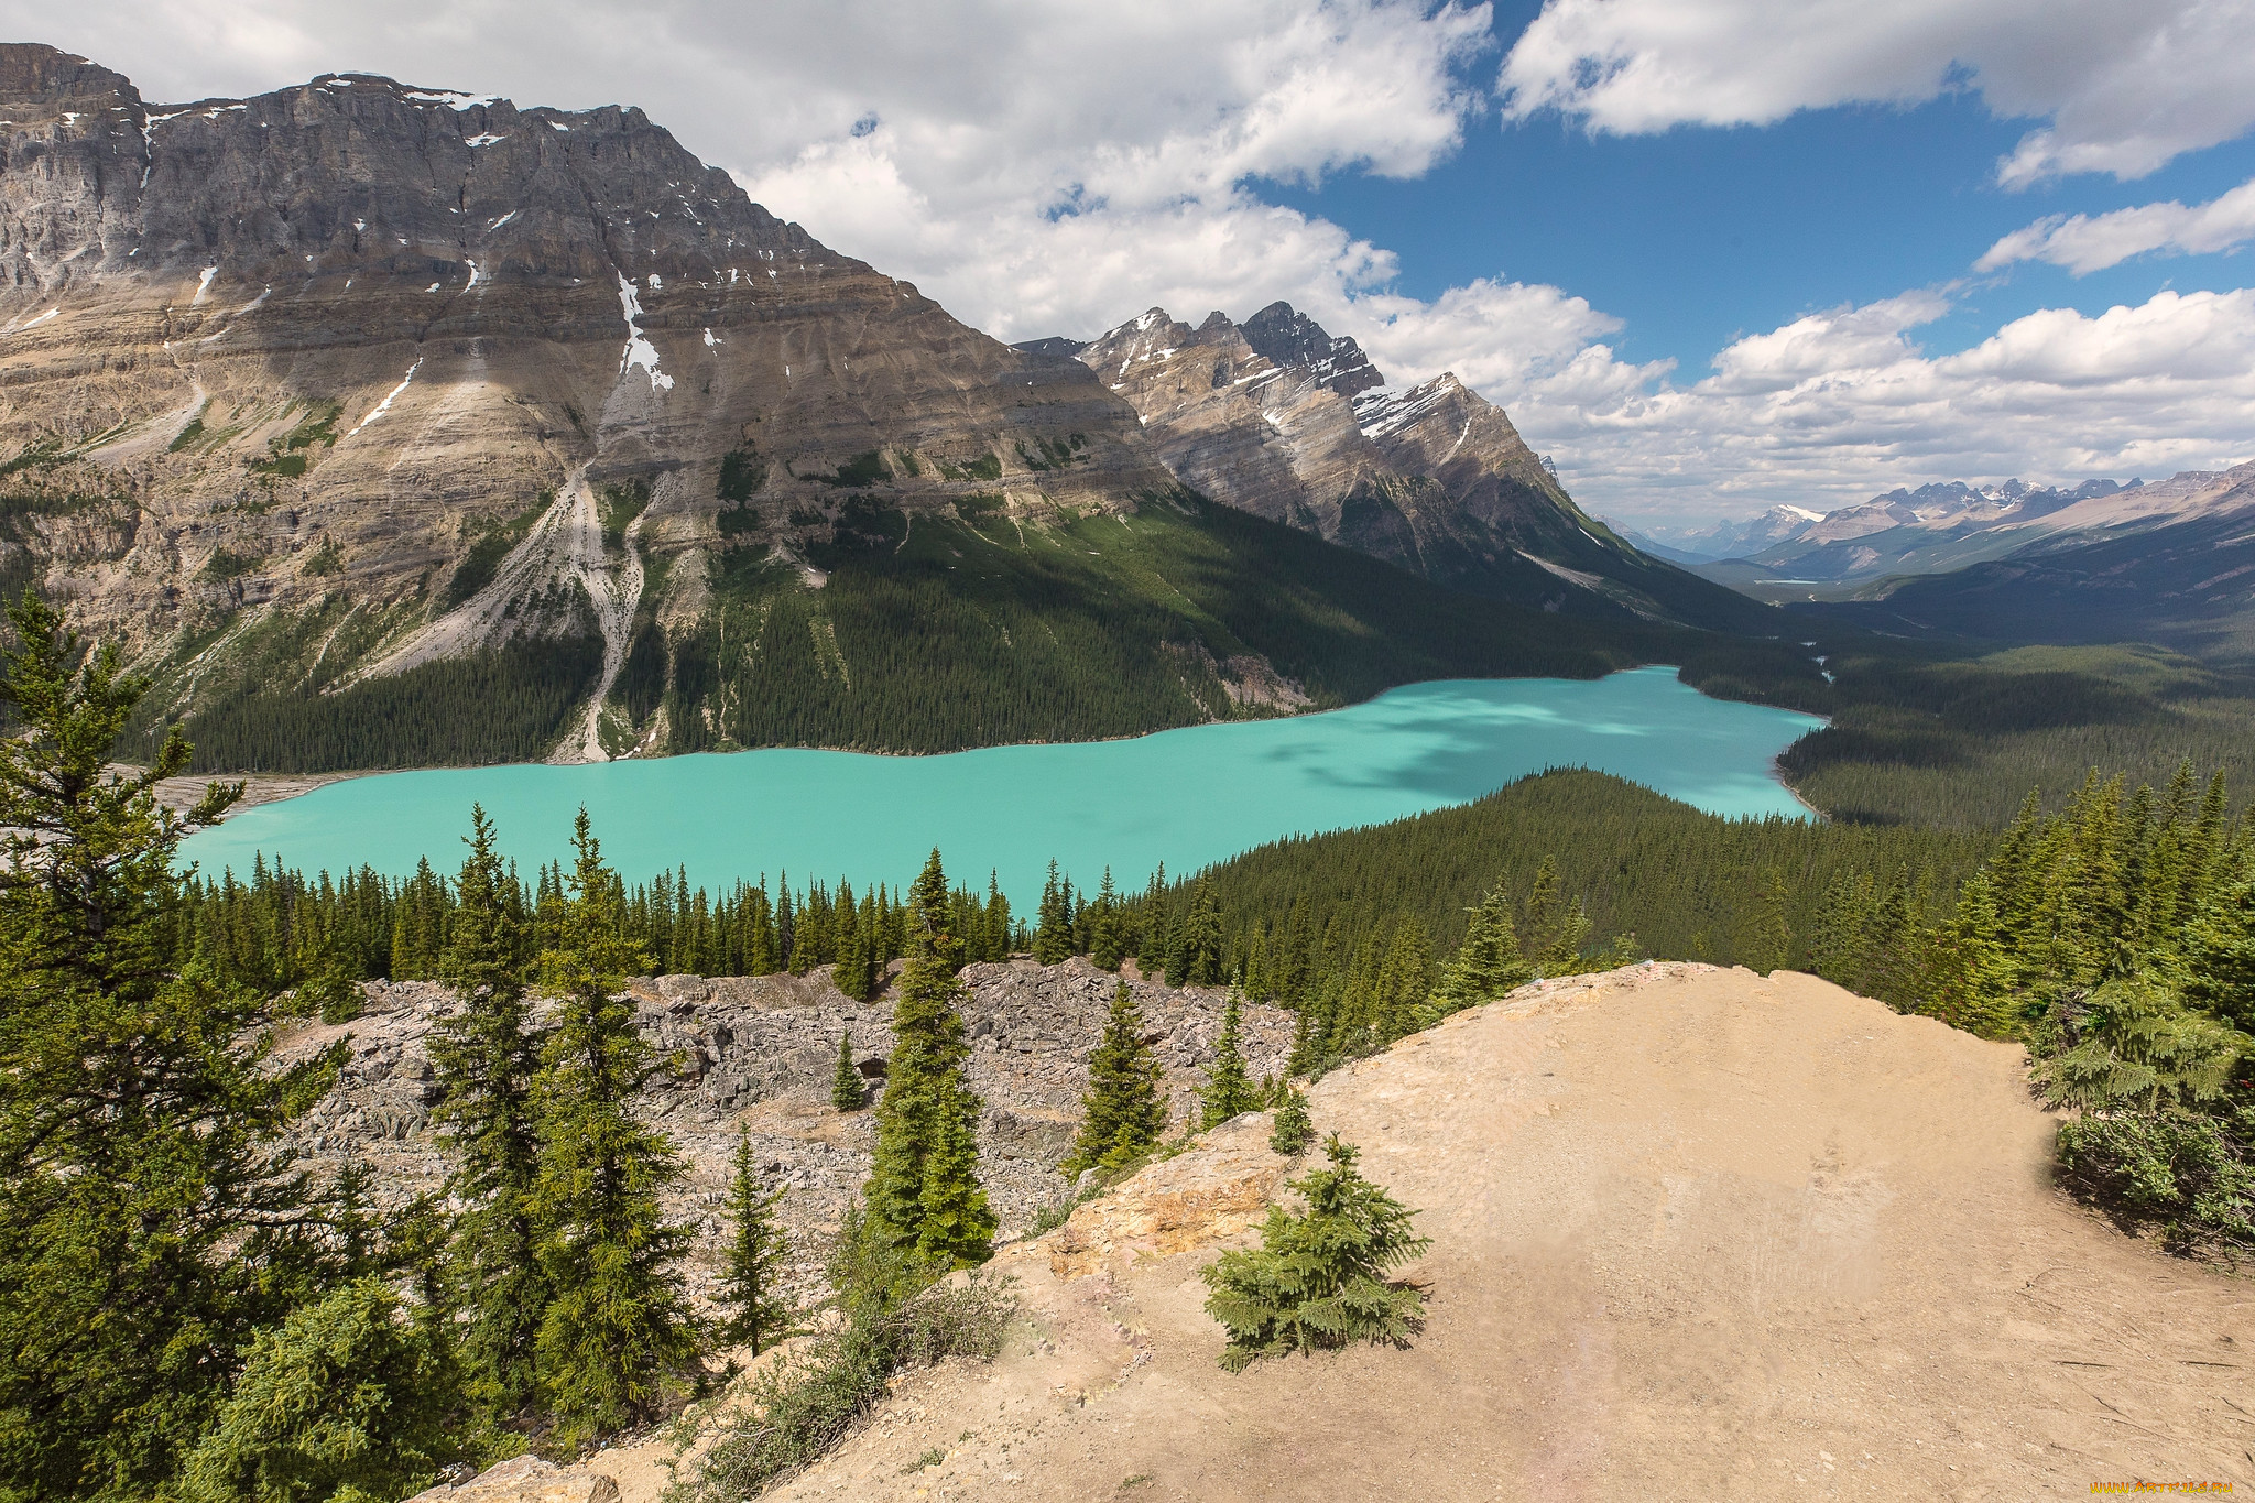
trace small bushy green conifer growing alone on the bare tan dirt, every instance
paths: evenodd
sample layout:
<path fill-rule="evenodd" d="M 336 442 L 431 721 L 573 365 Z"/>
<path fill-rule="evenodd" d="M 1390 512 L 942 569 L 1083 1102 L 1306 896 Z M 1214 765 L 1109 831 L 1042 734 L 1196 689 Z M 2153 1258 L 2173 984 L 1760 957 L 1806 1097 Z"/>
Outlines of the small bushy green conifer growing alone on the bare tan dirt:
<path fill-rule="evenodd" d="M 1222 1253 L 1200 1273 L 1213 1291 L 1206 1314 L 1229 1332 L 1222 1366 L 1231 1372 L 1355 1341 L 1409 1345 L 1425 1325 L 1425 1296 L 1387 1273 L 1432 1237 L 1409 1233 L 1416 1212 L 1355 1172 L 1358 1149 L 1339 1133 L 1324 1140 L 1324 1154 L 1328 1170 L 1290 1181 L 1306 1215 L 1270 1206 L 1258 1251 Z"/>

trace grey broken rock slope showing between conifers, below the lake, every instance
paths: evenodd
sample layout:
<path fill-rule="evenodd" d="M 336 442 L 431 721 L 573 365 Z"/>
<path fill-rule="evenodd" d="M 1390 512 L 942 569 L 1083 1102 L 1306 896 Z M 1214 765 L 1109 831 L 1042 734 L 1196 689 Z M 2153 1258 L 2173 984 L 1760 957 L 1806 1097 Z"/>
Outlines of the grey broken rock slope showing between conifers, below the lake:
<path fill-rule="evenodd" d="M 1103 1034 L 1118 976 L 1087 960 L 1042 967 L 1031 960 L 963 971 L 972 1041 L 970 1084 L 985 1102 L 979 1120 L 981 1181 L 1006 1230 L 1055 1203 L 1067 1183 L 1055 1165 L 1080 1127 L 1089 1050 Z M 1132 980 L 1152 1052 L 1166 1073 L 1170 1118 L 1191 1118 L 1204 1070 L 1220 1041 L 1224 996 Z M 309 1025 L 289 1037 L 282 1059 L 300 1059 L 347 1039 L 336 1088 L 300 1122 L 298 1140 L 325 1165 L 365 1163 L 386 1199 L 433 1190 L 446 1174 L 431 1124 L 437 1084 L 428 1039 L 456 1010 L 433 982 L 368 982 L 365 1016 Z M 782 1217 L 798 1233 L 798 1278 L 812 1282 L 823 1235 L 837 1230 L 846 1201 L 868 1179 L 873 1113 L 830 1104 L 839 1037 L 850 1032 L 864 1075 L 882 1084 L 893 1052 L 888 998 L 864 1005 L 810 976 L 658 976 L 629 985 L 636 1028 L 672 1068 L 645 1086 L 640 1111 L 672 1133 L 690 1165 L 670 1192 L 667 1212 L 697 1235 L 692 1289 L 719 1278 L 731 1156 L 737 1129 L 771 1183 L 789 1188 Z M 1292 1014 L 1245 1007 L 1245 1059 L 1254 1077 L 1283 1073 Z M 875 1091 L 873 1091 L 875 1100 Z"/>

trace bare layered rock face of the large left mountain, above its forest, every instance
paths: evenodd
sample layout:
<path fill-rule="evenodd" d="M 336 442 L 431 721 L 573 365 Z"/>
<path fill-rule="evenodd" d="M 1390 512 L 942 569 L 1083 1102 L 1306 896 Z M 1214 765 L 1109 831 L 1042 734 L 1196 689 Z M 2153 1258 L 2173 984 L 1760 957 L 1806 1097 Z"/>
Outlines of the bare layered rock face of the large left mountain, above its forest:
<path fill-rule="evenodd" d="M 1089 372 L 823 248 L 636 108 L 363 74 L 149 106 L 7 45 L 0 117 L 0 568 L 174 708 L 519 638 L 600 638 L 609 687 L 638 615 L 697 620 L 724 559 L 803 566 L 841 507 L 1170 484 Z"/>

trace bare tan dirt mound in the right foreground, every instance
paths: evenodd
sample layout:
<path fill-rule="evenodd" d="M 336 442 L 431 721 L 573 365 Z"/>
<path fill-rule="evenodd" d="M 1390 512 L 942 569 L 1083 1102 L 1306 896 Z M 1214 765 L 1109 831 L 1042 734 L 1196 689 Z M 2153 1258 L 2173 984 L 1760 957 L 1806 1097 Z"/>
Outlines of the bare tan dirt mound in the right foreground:
<path fill-rule="evenodd" d="M 2052 1192 L 2020 1079 L 2018 1048 L 1806 976 L 1639 967 L 1520 994 L 1312 1091 L 1317 1124 L 1423 1208 L 1414 1350 L 1215 1366 L 1197 1269 L 1285 1172 L 1243 1118 L 1008 1248 L 1010 1350 L 907 1379 L 771 1496 L 2246 1487 L 2255 1282 Z M 638 1503 L 649 1471 L 618 1471 Z"/>

